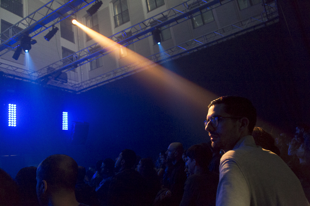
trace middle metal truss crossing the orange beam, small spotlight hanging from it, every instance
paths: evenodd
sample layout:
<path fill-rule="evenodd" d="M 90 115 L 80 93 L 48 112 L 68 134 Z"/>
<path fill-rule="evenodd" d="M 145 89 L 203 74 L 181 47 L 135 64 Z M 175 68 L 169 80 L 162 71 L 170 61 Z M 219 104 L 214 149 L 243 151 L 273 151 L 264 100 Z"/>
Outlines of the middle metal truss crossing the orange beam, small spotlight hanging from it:
<path fill-rule="evenodd" d="M 122 44 L 123 46 L 127 46 L 150 36 L 155 28 L 164 27 L 165 29 L 168 29 L 171 26 L 191 19 L 194 17 L 195 13 L 202 12 L 203 9 L 211 10 L 230 1 L 231 0 L 211 0 L 206 2 L 204 0 L 188 0 L 145 21 L 133 25 L 126 30 L 113 34 L 108 38 Z M 200 13 L 197 13 L 197 15 L 200 15 Z M 69 71 L 111 52 L 112 51 L 108 51 L 106 48 L 102 48 L 99 43 L 95 43 L 59 60 L 58 62 L 45 66 L 36 72 L 38 73 L 39 80 L 43 80 L 46 75 L 53 75 L 52 73 L 57 71 Z M 49 68 L 53 68 L 53 72 L 49 72 Z"/>

